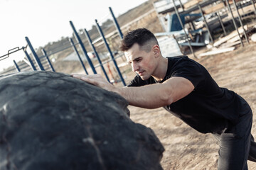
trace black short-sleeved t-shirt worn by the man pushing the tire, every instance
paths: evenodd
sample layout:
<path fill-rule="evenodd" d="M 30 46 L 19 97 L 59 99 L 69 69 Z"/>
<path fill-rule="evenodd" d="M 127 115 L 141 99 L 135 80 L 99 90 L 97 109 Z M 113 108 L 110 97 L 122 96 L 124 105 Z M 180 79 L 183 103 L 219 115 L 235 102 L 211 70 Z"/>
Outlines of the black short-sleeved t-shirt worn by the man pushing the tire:
<path fill-rule="evenodd" d="M 161 82 L 153 77 L 144 81 L 137 75 L 128 86 L 162 83 L 171 77 L 186 78 L 195 86 L 191 94 L 164 107 L 192 128 L 203 133 L 222 132 L 238 122 L 238 95 L 220 88 L 205 67 L 186 56 L 168 57 L 168 69 Z"/>

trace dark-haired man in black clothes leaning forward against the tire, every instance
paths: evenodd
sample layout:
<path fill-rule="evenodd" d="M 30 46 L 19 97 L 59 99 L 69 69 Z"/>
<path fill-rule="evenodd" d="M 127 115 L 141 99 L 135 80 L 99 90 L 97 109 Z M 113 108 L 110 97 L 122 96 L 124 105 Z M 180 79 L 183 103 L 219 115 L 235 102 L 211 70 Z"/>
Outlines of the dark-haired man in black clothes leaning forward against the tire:
<path fill-rule="evenodd" d="M 98 74 L 73 77 L 114 91 L 132 106 L 163 106 L 199 132 L 212 133 L 220 142 L 220 170 L 243 170 L 247 159 L 256 162 L 252 111 L 242 97 L 220 88 L 198 62 L 186 56 L 162 57 L 154 34 L 145 28 L 127 33 L 121 50 L 137 72 L 129 88 L 112 86 Z"/>

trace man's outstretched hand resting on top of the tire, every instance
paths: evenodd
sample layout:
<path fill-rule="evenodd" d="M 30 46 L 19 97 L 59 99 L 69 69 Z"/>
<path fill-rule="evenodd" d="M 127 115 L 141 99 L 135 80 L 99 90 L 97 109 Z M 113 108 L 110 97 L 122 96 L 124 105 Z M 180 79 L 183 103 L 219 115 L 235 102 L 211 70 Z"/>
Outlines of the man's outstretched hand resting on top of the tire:
<path fill-rule="evenodd" d="M 83 75 L 83 74 L 71 74 L 72 77 L 81 79 L 95 86 L 101 87 L 107 91 L 114 91 L 114 86 L 104 79 L 100 74 Z"/>

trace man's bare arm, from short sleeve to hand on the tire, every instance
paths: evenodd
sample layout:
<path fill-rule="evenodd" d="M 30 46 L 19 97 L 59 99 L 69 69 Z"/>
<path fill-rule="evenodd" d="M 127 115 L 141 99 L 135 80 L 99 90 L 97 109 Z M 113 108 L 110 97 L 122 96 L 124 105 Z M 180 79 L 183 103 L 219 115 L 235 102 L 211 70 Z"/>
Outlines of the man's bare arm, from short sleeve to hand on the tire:
<path fill-rule="evenodd" d="M 130 105 L 142 108 L 159 108 L 168 106 L 187 96 L 193 91 L 191 81 L 183 77 L 170 78 L 162 84 L 150 84 L 140 87 L 118 88 L 106 81 L 100 74 L 80 75 L 73 77 L 87 81 L 107 91 L 113 91 L 123 96 Z"/>

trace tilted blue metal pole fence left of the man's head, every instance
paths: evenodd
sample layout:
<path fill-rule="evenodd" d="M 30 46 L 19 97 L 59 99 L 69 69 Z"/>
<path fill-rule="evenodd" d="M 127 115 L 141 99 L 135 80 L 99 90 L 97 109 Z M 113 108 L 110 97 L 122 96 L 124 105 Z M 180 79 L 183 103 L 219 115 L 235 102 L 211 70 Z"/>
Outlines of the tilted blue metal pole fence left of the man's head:
<path fill-rule="evenodd" d="M 119 24 L 117 23 L 117 19 L 115 18 L 111 7 L 110 7 L 110 14 L 112 16 L 112 21 L 114 22 L 114 26 L 117 28 L 117 33 L 119 33 L 119 37 L 122 38 L 123 37 L 122 31 L 119 28 Z M 68 47 L 63 47 L 62 49 L 60 49 L 58 51 L 55 51 L 55 52 L 52 52 L 50 54 L 47 54 L 46 50 L 42 48 L 41 52 L 42 52 L 43 55 L 41 57 L 38 57 L 38 54 L 34 50 L 31 41 L 28 39 L 28 37 L 26 37 L 25 38 L 26 42 L 27 42 L 26 47 L 21 47 L 21 48 L 16 47 L 14 49 L 9 50 L 6 55 L 3 55 L 3 56 L 0 57 L 0 61 L 6 59 L 7 57 L 9 57 L 9 55 L 13 54 L 14 52 L 18 52 L 19 50 L 23 50 L 26 57 L 19 64 L 17 64 L 17 62 L 14 60 L 14 68 L 9 69 L 8 71 L 1 72 L 0 74 L 9 74 L 9 73 L 12 73 L 12 72 L 24 72 L 24 71 L 28 71 L 28 70 L 31 70 L 31 69 L 33 71 L 41 70 L 41 71 L 55 72 L 55 69 L 53 68 L 53 64 L 50 62 L 50 59 L 49 59 L 48 56 L 54 55 L 57 52 L 60 52 L 60 51 L 63 51 L 63 50 L 66 50 L 66 49 L 72 47 L 75 54 L 79 58 L 80 64 L 82 64 L 82 68 L 85 70 L 86 74 L 89 74 L 88 71 L 87 71 L 88 68 L 86 69 L 85 64 L 82 61 L 82 58 L 80 56 L 80 52 L 82 52 L 82 55 L 86 57 L 86 61 L 90 65 L 90 69 L 92 70 L 92 73 L 97 74 L 97 71 L 96 71 L 95 68 L 100 67 L 102 69 L 102 72 L 105 74 L 105 77 L 106 77 L 107 81 L 110 81 L 110 82 L 112 82 L 112 81 L 107 76 L 107 72 L 105 70 L 104 64 L 109 64 L 110 62 L 112 62 L 114 64 L 115 69 L 117 70 L 118 75 L 119 75 L 119 80 L 122 81 L 122 84 L 124 86 L 126 86 L 126 83 L 125 83 L 124 78 L 122 76 L 122 72 L 120 72 L 120 69 L 119 69 L 119 67 L 117 65 L 117 62 L 116 62 L 117 58 L 122 57 L 122 55 L 114 57 L 114 55 L 112 53 L 112 50 L 110 49 L 110 45 L 108 44 L 108 42 L 105 38 L 105 34 L 103 33 L 102 28 L 100 27 L 100 23 L 98 23 L 97 20 L 95 20 L 95 23 L 96 23 L 97 30 L 98 30 L 98 32 L 100 34 L 100 37 L 101 37 L 100 39 L 96 40 L 95 42 L 92 42 L 92 40 L 90 38 L 90 35 L 89 35 L 89 33 L 87 32 L 86 29 L 83 30 L 83 33 L 85 33 L 87 41 L 90 43 L 90 47 L 92 48 L 93 53 L 94 53 L 95 57 L 97 58 L 97 61 L 99 62 L 99 64 L 97 64 L 96 66 L 94 66 L 90 57 L 88 56 L 88 52 L 85 49 L 85 45 L 83 44 L 83 42 L 80 38 L 80 35 L 78 34 L 78 31 L 75 29 L 75 26 L 74 26 L 73 22 L 70 21 L 70 26 L 73 30 L 73 35 L 74 35 L 75 40 L 77 42 L 74 42 L 74 40 L 72 38 L 69 38 L 70 45 Z M 101 61 L 101 58 L 98 55 L 97 50 L 95 48 L 95 43 L 98 42 L 99 40 L 104 42 L 105 47 L 107 48 L 108 54 L 110 55 L 110 60 L 107 60 L 105 62 Z M 79 52 L 79 49 L 76 47 L 77 45 L 80 46 L 80 52 Z M 31 50 L 31 55 L 28 55 L 28 52 L 27 52 L 28 47 Z M 107 65 L 107 67 L 110 71 L 109 65 Z M 110 73 L 112 73 L 112 72 L 110 71 Z M 116 80 L 114 80 L 114 81 L 116 81 Z"/>

